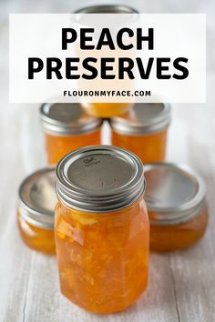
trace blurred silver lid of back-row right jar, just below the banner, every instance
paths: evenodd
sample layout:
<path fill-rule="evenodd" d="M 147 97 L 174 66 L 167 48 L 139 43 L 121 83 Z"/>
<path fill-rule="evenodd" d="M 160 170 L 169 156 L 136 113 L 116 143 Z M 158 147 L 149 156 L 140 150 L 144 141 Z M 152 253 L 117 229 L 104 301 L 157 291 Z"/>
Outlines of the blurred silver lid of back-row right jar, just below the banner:
<path fill-rule="evenodd" d="M 170 106 L 162 103 L 138 103 L 127 114 L 110 119 L 116 132 L 131 136 L 158 132 L 169 126 L 169 122 Z"/>

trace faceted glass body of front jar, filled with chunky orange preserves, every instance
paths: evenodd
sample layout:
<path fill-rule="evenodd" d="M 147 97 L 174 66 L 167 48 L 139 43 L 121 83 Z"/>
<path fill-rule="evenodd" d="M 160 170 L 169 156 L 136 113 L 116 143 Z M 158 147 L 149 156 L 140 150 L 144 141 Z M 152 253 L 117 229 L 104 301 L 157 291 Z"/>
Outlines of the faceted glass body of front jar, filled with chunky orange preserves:
<path fill-rule="evenodd" d="M 148 282 L 148 214 L 142 197 L 112 213 L 58 202 L 56 253 L 62 293 L 95 313 L 130 306 Z"/>

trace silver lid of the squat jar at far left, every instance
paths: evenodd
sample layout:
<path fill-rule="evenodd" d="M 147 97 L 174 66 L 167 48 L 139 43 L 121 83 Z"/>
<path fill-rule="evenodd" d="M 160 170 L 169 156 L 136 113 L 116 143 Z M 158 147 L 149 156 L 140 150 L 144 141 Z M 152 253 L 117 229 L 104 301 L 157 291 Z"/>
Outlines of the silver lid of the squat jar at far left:
<path fill-rule="evenodd" d="M 55 169 L 44 168 L 27 176 L 19 187 L 18 210 L 27 222 L 45 229 L 54 229 Z"/>

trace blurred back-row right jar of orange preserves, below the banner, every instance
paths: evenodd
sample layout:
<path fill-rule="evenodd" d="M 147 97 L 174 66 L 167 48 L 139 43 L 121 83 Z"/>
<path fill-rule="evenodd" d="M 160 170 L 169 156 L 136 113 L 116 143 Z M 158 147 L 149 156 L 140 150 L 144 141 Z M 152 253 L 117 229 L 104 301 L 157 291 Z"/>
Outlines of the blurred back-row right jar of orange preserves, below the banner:
<path fill-rule="evenodd" d="M 144 164 L 164 161 L 169 122 L 169 105 L 136 104 L 126 115 L 111 118 L 111 144 L 134 152 Z"/>

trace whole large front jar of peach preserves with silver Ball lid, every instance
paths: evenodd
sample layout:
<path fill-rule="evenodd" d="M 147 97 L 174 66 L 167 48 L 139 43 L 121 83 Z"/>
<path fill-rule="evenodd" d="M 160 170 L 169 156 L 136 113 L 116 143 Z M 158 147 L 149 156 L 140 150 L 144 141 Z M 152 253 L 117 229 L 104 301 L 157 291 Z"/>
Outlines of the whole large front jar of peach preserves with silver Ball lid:
<path fill-rule="evenodd" d="M 62 293 L 79 307 L 129 307 L 148 282 L 148 213 L 137 156 L 90 146 L 56 167 L 56 255 Z"/>

